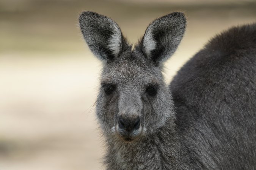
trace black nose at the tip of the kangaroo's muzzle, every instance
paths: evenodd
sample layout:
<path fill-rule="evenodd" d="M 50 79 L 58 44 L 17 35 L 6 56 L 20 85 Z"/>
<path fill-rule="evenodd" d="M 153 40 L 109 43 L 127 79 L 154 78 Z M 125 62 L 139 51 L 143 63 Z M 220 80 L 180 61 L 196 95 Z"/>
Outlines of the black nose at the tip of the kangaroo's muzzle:
<path fill-rule="evenodd" d="M 140 128 L 140 117 L 139 116 L 120 116 L 118 126 L 126 131 L 137 130 Z"/>

